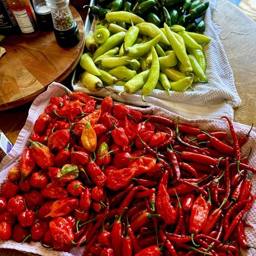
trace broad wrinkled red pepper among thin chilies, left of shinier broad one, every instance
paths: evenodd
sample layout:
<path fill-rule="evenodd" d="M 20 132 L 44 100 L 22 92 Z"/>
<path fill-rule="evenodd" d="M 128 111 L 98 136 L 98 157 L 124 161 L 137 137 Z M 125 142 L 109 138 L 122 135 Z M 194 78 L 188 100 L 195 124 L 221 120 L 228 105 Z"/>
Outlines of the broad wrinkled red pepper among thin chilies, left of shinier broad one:
<path fill-rule="evenodd" d="M 167 225 L 175 223 L 177 212 L 170 203 L 170 196 L 163 184 L 159 184 L 156 196 L 156 210 Z"/>

